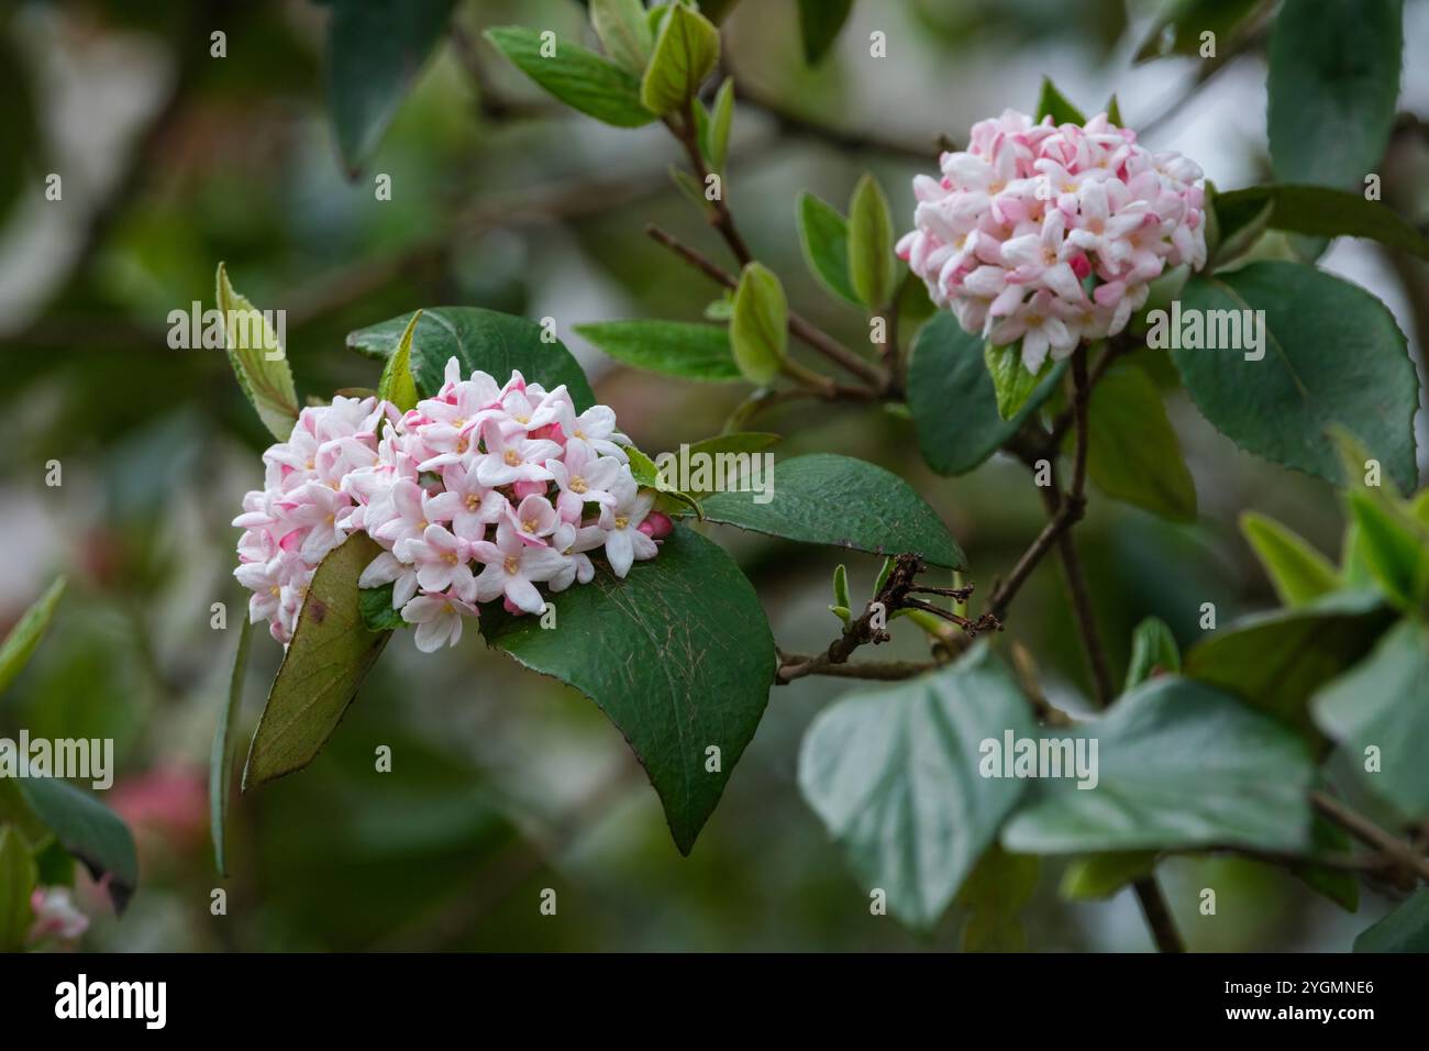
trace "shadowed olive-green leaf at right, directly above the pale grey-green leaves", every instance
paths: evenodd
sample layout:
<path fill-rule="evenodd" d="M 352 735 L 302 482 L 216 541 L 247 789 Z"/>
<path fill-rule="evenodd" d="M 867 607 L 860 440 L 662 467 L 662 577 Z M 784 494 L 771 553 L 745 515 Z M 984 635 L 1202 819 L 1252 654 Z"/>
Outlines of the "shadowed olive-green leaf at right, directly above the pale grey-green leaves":
<path fill-rule="evenodd" d="M 1186 653 L 1186 675 L 1316 738 L 1310 696 L 1365 656 L 1393 615 L 1379 595 L 1339 592 L 1218 628 Z"/>

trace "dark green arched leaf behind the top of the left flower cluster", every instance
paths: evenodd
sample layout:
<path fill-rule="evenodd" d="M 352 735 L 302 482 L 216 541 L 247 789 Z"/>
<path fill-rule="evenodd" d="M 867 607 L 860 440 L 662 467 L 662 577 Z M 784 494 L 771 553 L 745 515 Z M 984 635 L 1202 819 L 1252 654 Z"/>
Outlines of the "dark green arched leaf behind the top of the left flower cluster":
<path fill-rule="evenodd" d="M 413 315 L 347 333 L 347 346 L 370 357 L 390 357 L 402 343 Z M 562 383 L 577 409 L 589 409 L 596 395 L 570 350 L 559 339 L 543 339 L 542 326 L 524 317 L 476 306 L 429 306 L 422 310 L 412 336 L 412 375 L 417 393 L 433 398 L 442 389 L 446 363 L 456 357 L 462 375 L 476 369 L 497 383 L 520 370 L 530 383 L 552 390 Z"/>

